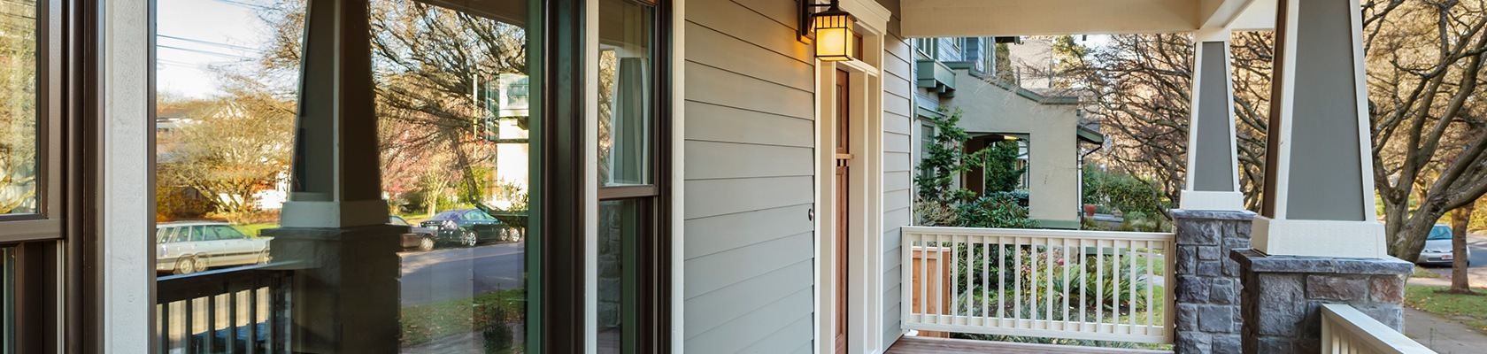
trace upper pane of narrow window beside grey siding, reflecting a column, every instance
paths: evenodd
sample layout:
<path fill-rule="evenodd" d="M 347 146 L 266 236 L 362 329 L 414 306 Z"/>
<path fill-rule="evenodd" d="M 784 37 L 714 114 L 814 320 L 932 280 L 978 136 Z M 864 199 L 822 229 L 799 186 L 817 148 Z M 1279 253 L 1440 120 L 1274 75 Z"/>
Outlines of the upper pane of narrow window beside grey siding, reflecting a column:
<path fill-rule="evenodd" d="M 599 186 L 650 184 L 650 6 L 599 1 Z"/>

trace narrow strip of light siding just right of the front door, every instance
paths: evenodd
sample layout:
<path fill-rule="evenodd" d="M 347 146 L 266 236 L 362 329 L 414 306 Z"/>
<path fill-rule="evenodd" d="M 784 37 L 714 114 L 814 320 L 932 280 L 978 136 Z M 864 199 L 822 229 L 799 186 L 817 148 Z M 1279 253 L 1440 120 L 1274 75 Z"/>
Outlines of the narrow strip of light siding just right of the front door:
<path fill-rule="evenodd" d="M 898 1 L 879 0 L 894 10 L 889 36 L 883 40 L 883 348 L 901 333 L 901 284 L 898 229 L 910 223 L 913 204 L 913 149 L 917 138 L 913 85 L 913 46 L 898 33 Z"/>

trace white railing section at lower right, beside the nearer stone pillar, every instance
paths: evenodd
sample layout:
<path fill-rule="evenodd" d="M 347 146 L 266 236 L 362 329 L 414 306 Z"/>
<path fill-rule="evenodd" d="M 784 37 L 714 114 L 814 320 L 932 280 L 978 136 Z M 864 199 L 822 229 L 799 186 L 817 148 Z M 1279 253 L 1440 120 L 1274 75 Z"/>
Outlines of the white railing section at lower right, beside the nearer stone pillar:
<path fill-rule="evenodd" d="M 1322 305 L 1323 354 L 1435 354 L 1430 348 L 1344 303 Z"/>

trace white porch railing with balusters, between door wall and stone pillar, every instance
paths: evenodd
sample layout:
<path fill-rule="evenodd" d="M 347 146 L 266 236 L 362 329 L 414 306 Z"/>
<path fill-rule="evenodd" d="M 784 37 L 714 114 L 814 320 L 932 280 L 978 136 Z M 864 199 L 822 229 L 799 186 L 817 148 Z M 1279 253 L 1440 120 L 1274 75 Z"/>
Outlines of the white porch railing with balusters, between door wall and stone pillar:
<path fill-rule="evenodd" d="M 901 234 L 904 329 L 1172 344 L 1172 234 Z"/>

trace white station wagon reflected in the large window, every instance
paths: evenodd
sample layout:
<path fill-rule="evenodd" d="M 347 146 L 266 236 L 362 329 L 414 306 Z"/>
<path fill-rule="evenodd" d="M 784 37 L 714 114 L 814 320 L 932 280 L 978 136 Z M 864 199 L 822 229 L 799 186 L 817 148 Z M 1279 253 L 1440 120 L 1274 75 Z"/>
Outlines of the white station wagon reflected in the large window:
<path fill-rule="evenodd" d="M 269 238 L 250 238 L 222 222 L 155 226 L 155 271 L 192 274 L 213 266 L 269 262 Z"/>

